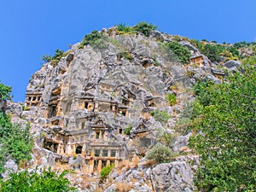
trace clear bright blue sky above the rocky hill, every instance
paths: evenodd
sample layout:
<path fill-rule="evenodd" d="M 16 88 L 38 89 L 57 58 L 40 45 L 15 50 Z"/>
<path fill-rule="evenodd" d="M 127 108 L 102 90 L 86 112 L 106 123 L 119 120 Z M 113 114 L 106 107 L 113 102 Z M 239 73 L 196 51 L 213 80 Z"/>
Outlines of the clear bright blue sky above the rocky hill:
<path fill-rule="evenodd" d="M 15 102 L 43 64 L 85 34 L 114 24 L 147 21 L 161 32 L 218 43 L 256 41 L 255 0 L 8 0 L 0 7 L 0 80 Z"/>

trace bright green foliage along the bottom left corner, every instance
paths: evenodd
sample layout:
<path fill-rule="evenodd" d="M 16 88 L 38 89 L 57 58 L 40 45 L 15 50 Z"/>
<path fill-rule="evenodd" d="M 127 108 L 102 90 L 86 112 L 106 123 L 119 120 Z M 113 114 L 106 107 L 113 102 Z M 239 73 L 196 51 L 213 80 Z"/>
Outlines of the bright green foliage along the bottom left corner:
<path fill-rule="evenodd" d="M 0 191 L 20 191 L 20 192 L 70 192 L 76 191 L 70 186 L 70 182 L 64 176 L 67 172 L 52 172 L 43 170 L 41 174 L 34 172 L 18 172 L 10 174 L 7 181 L 0 180 Z"/>

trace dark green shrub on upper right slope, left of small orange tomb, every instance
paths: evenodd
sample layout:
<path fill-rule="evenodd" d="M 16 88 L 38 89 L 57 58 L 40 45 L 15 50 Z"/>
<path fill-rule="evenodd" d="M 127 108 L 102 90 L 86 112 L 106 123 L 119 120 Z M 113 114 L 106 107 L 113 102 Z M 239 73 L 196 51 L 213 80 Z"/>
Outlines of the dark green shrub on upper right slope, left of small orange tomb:
<path fill-rule="evenodd" d="M 177 41 L 172 41 L 166 44 L 172 52 L 177 55 L 179 61 L 183 64 L 189 63 L 189 58 L 191 56 L 190 51 L 187 47 L 183 47 L 183 45 L 177 43 Z"/>

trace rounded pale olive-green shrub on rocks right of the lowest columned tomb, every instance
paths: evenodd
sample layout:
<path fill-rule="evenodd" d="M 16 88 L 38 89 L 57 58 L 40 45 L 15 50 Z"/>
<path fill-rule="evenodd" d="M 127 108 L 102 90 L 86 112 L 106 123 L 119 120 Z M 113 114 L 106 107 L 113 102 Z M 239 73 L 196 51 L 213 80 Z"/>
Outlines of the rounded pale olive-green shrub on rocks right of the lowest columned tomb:
<path fill-rule="evenodd" d="M 172 152 L 171 148 L 166 147 L 161 143 L 157 143 L 148 151 L 146 158 L 148 160 L 154 160 L 155 163 L 168 163 L 171 160 L 175 159 L 177 156 L 176 153 Z"/>

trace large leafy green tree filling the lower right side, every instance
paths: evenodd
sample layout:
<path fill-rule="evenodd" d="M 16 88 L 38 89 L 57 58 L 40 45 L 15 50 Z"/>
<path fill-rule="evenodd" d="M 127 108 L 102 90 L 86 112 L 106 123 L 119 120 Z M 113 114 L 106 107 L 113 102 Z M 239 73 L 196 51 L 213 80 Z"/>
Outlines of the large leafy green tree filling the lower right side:
<path fill-rule="evenodd" d="M 255 66 L 247 66 L 244 74 L 230 75 L 229 83 L 197 88 L 195 109 L 201 111 L 190 125 L 189 145 L 200 154 L 196 183 L 202 191 L 256 188 L 255 77 Z"/>

